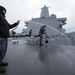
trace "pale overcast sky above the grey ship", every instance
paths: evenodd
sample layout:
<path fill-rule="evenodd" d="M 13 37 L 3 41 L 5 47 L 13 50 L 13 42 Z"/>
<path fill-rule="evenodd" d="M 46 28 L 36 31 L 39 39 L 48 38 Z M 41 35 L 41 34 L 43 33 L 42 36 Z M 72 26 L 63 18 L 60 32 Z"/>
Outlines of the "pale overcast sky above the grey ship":
<path fill-rule="evenodd" d="M 75 0 L 0 0 L 0 5 L 7 9 L 6 19 L 10 24 L 21 20 L 17 32 L 25 28 L 24 21 L 40 17 L 40 8 L 46 5 L 49 15 L 56 14 L 57 18 L 67 18 L 64 26 L 66 32 L 75 31 Z"/>

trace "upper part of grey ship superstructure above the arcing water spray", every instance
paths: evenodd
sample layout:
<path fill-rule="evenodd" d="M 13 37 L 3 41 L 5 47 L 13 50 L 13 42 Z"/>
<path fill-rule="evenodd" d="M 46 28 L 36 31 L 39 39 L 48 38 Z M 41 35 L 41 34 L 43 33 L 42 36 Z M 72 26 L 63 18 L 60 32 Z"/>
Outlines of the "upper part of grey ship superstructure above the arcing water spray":
<path fill-rule="evenodd" d="M 26 21 L 26 25 L 28 25 L 29 22 L 35 22 L 49 25 L 55 29 L 57 29 L 60 32 L 65 33 L 65 29 L 62 28 L 63 25 L 66 24 L 66 18 L 57 18 L 55 14 L 51 14 L 49 16 L 49 7 L 46 7 L 46 5 L 41 8 L 41 14 L 39 18 L 32 18 L 30 21 Z"/>

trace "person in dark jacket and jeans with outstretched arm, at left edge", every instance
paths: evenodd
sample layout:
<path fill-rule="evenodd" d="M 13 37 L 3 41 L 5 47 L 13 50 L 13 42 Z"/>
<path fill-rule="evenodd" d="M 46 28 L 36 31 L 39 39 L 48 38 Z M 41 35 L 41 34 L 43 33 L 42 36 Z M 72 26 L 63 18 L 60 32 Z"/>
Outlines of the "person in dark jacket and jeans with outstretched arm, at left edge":
<path fill-rule="evenodd" d="M 7 38 L 9 37 L 9 29 L 17 26 L 20 23 L 20 20 L 10 25 L 5 19 L 6 9 L 3 6 L 0 6 L 0 74 L 5 73 L 6 69 L 3 66 L 7 66 L 7 62 L 3 62 L 7 51 Z"/>

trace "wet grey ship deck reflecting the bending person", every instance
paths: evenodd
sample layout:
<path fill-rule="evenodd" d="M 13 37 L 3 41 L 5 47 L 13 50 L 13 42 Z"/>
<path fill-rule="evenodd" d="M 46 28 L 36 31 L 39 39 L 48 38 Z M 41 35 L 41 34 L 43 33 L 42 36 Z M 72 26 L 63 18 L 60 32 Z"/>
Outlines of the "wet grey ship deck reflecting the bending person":
<path fill-rule="evenodd" d="M 8 45 L 2 75 L 75 75 L 75 46 L 28 45 L 25 39 Z"/>

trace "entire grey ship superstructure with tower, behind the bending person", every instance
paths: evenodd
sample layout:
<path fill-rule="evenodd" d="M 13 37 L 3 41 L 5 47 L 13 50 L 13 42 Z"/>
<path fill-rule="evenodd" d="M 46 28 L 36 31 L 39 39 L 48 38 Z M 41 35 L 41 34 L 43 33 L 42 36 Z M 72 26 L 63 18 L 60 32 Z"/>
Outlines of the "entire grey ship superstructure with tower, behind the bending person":
<path fill-rule="evenodd" d="M 48 7 L 46 5 L 41 8 L 41 14 L 39 18 L 32 18 L 29 21 L 25 21 L 27 29 L 24 29 L 23 32 L 28 34 L 32 30 L 32 37 L 27 38 L 28 43 L 39 43 L 39 37 L 34 38 L 35 35 L 38 35 L 40 27 L 46 25 L 46 31 L 48 35 L 48 40 L 52 42 L 51 44 L 71 44 L 70 39 L 65 35 L 65 29 L 63 25 L 66 24 L 66 18 L 57 18 L 56 15 L 51 14 L 49 16 Z M 45 40 L 45 36 L 43 37 Z"/>

